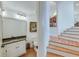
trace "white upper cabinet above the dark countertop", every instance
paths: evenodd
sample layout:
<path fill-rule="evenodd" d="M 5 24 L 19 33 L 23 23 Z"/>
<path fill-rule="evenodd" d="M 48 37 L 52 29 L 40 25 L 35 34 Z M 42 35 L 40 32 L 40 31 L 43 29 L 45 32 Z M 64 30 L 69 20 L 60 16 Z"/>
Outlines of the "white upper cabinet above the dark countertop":
<path fill-rule="evenodd" d="M 26 21 L 3 18 L 3 38 L 26 35 Z"/>

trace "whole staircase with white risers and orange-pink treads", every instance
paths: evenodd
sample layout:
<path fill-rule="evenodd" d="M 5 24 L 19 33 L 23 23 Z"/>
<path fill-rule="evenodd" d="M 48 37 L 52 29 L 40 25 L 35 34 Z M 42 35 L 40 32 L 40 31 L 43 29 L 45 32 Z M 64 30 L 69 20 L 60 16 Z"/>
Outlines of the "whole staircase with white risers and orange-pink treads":
<path fill-rule="evenodd" d="M 58 37 L 50 37 L 48 52 L 64 57 L 79 57 L 79 27 L 72 27 Z"/>

